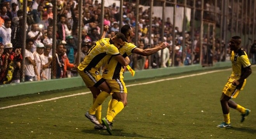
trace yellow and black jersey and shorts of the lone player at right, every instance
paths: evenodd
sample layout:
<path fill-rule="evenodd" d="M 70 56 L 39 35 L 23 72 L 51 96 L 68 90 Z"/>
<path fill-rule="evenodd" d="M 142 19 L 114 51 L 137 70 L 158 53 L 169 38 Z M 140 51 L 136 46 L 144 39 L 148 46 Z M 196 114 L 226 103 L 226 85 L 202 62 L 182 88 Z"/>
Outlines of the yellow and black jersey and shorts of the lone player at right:
<path fill-rule="evenodd" d="M 234 80 L 239 80 L 241 75 L 244 74 L 243 68 L 251 66 L 251 63 L 249 61 L 249 58 L 246 54 L 246 52 L 242 49 L 239 49 L 237 53 L 234 53 L 232 51 L 230 60 L 232 62 L 232 74 L 228 78 L 228 82 L 223 88 L 223 93 L 231 98 L 236 98 L 239 94 L 240 90 L 244 89 L 244 86 L 246 85 L 246 79 L 242 82 L 240 82 L 239 85 L 234 86 L 232 85 Z"/>

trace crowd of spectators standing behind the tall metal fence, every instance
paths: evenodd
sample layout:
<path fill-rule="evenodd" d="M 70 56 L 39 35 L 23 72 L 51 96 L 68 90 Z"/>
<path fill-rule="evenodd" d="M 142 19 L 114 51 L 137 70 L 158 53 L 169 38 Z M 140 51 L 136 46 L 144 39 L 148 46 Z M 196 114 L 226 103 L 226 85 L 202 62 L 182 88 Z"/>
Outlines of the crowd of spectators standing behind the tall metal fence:
<path fill-rule="evenodd" d="M 82 61 L 91 45 L 101 38 L 99 35 L 101 4 L 98 0 L 84 0 L 81 56 L 77 58 L 78 1 L 57 0 L 56 63 L 52 63 L 53 5 L 51 2 L 52 0 L 28 0 L 26 53 L 22 56 L 23 5 L 19 0 L 2 0 L 0 4 L 0 84 L 20 82 L 23 58 L 25 59 L 25 81 L 77 76 L 77 61 Z M 123 17 L 123 20 L 120 21 L 122 25 L 131 25 L 135 31 L 135 3 L 124 1 L 124 6 L 121 8 L 123 8 L 123 13 L 119 12 L 120 7 L 115 3 L 104 8 L 104 25 L 110 27 L 105 37 L 111 38 L 119 31 L 120 14 Z M 146 49 L 158 46 L 162 41 L 161 38 L 164 38 L 167 48 L 163 50 L 162 59 L 160 51 L 150 56 L 150 63 L 148 57 L 133 54 L 130 58 L 130 65 L 136 68 L 135 70 L 143 70 L 147 68 L 166 68 L 171 66 L 172 62 L 174 66 L 199 63 L 198 32 L 192 42 L 193 36 L 186 32 L 185 38 L 183 38 L 181 31 L 178 27 L 173 26 L 170 18 L 167 18 L 163 23 L 160 17 L 154 17 L 152 34 L 149 34 L 149 12 L 149 9 L 139 8 L 138 47 Z M 162 24 L 165 25 L 164 36 L 161 36 Z M 172 42 L 173 30 L 176 32 L 175 42 Z M 149 42 L 149 37 L 152 38 L 151 42 Z M 183 39 L 185 39 L 184 46 L 182 46 Z M 134 38 L 132 42 L 135 42 Z M 175 44 L 174 53 L 172 53 L 172 44 Z M 223 56 L 225 54 L 223 54 L 221 42 L 217 42 L 215 49 L 210 48 L 211 46 L 204 45 L 204 55 L 211 55 L 214 61 L 223 61 L 222 58 L 225 58 Z M 212 50 L 215 51 L 212 52 Z M 173 54 L 174 59 L 172 59 Z M 134 63 L 136 63 L 136 66 Z M 53 67 L 54 70 L 52 70 Z"/>

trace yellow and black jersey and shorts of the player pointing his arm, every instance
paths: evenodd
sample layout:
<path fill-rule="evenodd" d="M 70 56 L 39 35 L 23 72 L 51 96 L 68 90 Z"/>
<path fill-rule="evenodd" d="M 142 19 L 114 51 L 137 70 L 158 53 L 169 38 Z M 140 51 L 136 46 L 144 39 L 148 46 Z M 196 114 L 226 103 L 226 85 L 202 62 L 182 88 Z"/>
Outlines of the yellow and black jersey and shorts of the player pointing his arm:
<path fill-rule="evenodd" d="M 125 58 L 131 55 L 135 48 L 137 48 L 137 46 L 134 44 L 125 42 L 125 44 L 119 48 L 119 52 Z M 110 86 L 112 92 L 127 93 L 127 89 L 123 81 L 123 73 L 124 67 L 115 59 L 110 59 L 110 61 L 106 63 L 102 76 Z"/>

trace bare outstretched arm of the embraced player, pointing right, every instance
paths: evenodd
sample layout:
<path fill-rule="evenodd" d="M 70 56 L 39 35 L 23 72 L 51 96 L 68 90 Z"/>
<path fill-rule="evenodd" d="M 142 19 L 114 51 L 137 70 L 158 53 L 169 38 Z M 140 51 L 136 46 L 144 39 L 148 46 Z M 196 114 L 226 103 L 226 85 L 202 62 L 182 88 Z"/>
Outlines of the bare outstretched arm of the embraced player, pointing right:
<path fill-rule="evenodd" d="M 154 48 L 149 48 L 149 49 L 140 49 L 140 48 L 136 48 L 132 51 L 132 53 L 134 54 L 139 54 L 141 56 L 150 56 L 151 54 L 156 53 L 159 50 L 162 50 L 166 48 L 166 44 L 164 42 L 162 42 L 160 44 L 160 46 L 154 47 Z"/>

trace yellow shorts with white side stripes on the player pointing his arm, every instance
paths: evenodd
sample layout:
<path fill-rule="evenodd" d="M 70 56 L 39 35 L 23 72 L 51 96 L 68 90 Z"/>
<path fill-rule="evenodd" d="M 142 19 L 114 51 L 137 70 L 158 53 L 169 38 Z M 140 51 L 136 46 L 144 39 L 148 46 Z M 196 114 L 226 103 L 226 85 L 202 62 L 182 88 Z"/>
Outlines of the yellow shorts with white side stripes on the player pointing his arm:
<path fill-rule="evenodd" d="M 127 88 L 125 86 L 123 79 L 113 79 L 113 80 L 106 79 L 106 82 L 110 86 L 111 92 L 127 93 Z"/>

